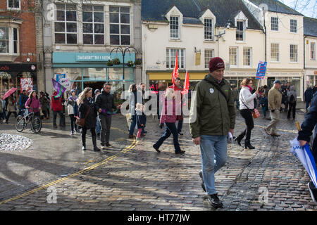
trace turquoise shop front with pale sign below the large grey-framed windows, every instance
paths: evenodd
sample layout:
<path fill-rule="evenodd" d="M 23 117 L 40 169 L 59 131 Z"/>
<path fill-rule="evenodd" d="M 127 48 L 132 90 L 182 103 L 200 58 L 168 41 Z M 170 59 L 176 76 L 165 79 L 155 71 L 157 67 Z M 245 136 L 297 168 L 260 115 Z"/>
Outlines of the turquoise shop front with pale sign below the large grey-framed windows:
<path fill-rule="evenodd" d="M 119 60 L 118 65 L 109 65 L 109 60 Z M 66 89 L 76 89 L 79 94 L 85 87 L 101 90 L 105 82 L 111 84 L 111 94 L 120 99 L 120 94 L 129 89 L 135 81 L 134 66 L 126 63 L 135 62 L 135 53 L 87 53 L 87 52 L 54 52 L 54 79 L 66 86 Z M 123 74 L 124 71 L 124 74 Z"/>

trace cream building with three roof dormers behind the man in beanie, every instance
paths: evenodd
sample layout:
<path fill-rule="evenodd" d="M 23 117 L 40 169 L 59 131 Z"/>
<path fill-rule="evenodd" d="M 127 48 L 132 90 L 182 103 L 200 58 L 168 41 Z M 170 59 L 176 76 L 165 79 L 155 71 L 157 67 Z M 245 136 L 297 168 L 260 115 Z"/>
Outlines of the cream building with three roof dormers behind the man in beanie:
<path fill-rule="evenodd" d="M 194 4 L 199 1 L 192 3 L 168 6 L 161 1 L 158 12 L 153 1 L 142 1 L 143 75 L 149 86 L 171 84 L 176 52 L 180 78 L 185 79 L 188 70 L 192 88 L 209 73 L 209 60 L 215 56 L 225 61 L 225 77 L 232 85 L 240 85 L 244 77 L 255 78 L 258 63 L 264 60 L 264 45 L 259 44 L 264 36 L 254 16 L 237 1 L 218 1 L 209 8 L 203 1 L 200 6 Z M 215 7 L 228 13 L 215 15 Z"/>

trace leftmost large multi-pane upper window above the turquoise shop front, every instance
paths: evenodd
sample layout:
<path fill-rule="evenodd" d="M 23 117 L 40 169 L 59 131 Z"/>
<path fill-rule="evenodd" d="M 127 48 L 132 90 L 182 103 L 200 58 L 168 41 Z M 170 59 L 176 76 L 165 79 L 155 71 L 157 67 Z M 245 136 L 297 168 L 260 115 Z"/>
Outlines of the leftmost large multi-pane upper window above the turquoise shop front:
<path fill-rule="evenodd" d="M 56 4 L 55 43 L 77 44 L 77 12 L 74 4 Z"/>

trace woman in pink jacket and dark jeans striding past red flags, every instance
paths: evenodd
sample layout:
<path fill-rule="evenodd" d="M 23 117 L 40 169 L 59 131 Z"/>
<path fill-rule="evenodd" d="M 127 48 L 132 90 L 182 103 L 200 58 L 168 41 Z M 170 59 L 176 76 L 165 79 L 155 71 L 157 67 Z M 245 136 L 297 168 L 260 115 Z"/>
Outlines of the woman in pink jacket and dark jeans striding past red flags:
<path fill-rule="evenodd" d="M 161 150 L 159 150 L 159 148 L 162 145 L 162 143 L 166 139 L 168 139 L 170 134 L 173 134 L 175 154 L 185 153 L 185 150 L 180 150 L 180 143 L 178 143 L 178 129 L 176 128 L 176 125 L 175 125 L 176 117 L 177 117 L 175 106 L 176 106 L 176 103 L 175 103 L 174 89 L 167 89 L 164 95 L 164 104 L 163 104 L 163 109 L 161 113 L 161 121 L 160 121 L 161 129 L 163 127 L 163 124 L 165 124 L 165 132 L 161 136 L 159 141 L 156 141 L 156 143 L 154 143 L 153 145 L 153 148 L 158 153 L 161 153 Z"/>

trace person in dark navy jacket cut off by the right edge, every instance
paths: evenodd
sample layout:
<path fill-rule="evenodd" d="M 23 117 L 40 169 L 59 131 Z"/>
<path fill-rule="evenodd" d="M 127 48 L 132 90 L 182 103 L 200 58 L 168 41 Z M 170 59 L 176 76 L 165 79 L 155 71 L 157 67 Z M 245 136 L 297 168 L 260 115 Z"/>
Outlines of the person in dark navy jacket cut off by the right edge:
<path fill-rule="evenodd" d="M 309 143 L 310 137 L 313 134 L 313 129 L 315 128 L 315 138 L 313 139 L 313 148 L 312 153 L 315 161 L 317 161 L 317 94 L 313 95 L 313 101 L 311 102 L 311 108 L 309 108 L 309 112 L 305 115 L 305 120 L 301 126 L 302 130 L 298 132 L 297 139 L 301 146 Z M 313 182 L 310 181 L 309 191 L 311 193 L 311 198 L 313 200 L 317 200 L 317 188 L 313 185 Z"/>

